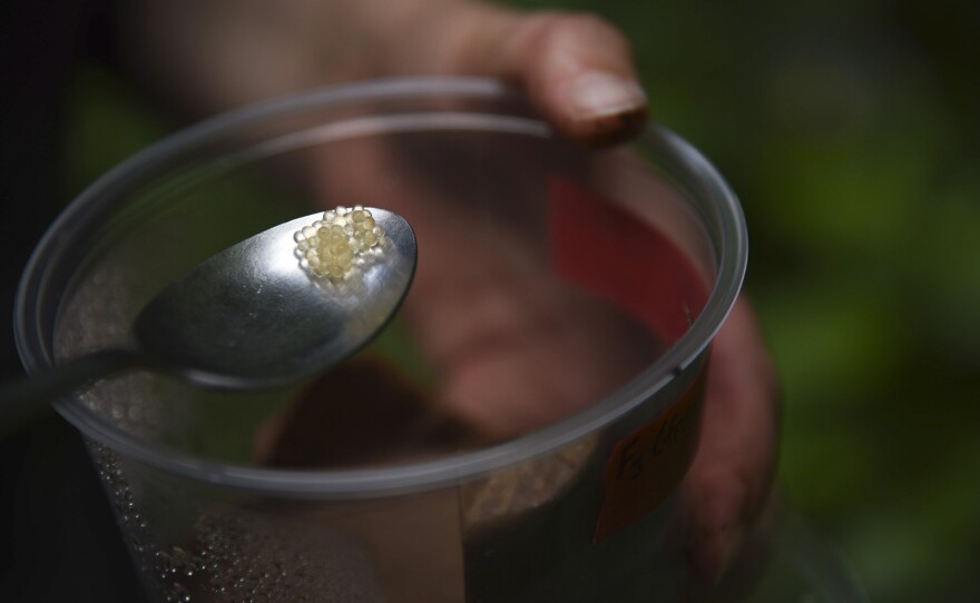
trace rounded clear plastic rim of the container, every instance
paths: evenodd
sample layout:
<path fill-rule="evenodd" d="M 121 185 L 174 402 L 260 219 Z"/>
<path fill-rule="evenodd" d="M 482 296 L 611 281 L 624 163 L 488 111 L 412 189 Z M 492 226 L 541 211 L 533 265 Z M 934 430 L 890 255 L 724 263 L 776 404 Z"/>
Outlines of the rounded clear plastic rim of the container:
<path fill-rule="evenodd" d="M 121 182 L 154 172 L 169 159 L 209 139 L 293 111 L 359 100 L 439 95 L 502 100 L 513 98 L 518 92 L 498 80 L 469 77 L 392 78 L 329 86 L 213 117 L 170 135 L 119 164 L 69 204 L 28 260 L 14 302 L 14 337 L 28 374 L 42 372 L 52 364 L 50 342 L 46 340 L 37 313 L 37 300 L 49 276 L 48 266 L 74 243 L 72 231 L 76 229 L 72 224 L 77 224 L 77 218 L 92 207 L 111 202 L 111 191 Z M 435 461 L 366 469 L 296 471 L 231 465 L 147 444 L 104 421 L 75 397 L 58 401 L 55 407 L 85 436 L 125 457 L 189 480 L 286 498 L 372 498 L 438 490 L 556 451 L 615 422 L 677 378 L 705 352 L 721 328 L 745 275 L 748 254 L 745 219 L 724 178 L 700 152 L 667 128 L 651 125 L 645 136 L 647 141 L 673 155 L 687 177 L 697 179 L 705 187 L 706 201 L 715 211 L 719 227 L 717 277 L 700 315 L 660 358 L 625 386 L 580 413 L 501 444 Z"/>

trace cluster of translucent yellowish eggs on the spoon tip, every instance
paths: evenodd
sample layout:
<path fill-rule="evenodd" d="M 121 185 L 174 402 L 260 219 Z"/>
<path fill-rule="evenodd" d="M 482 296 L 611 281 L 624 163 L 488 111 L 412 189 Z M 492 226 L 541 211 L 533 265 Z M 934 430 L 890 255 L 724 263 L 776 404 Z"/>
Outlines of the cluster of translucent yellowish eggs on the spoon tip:
<path fill-rule="evenodd" d="M 343 278 L 355 260 L 380 249 L 384 229 L 364 206 L 340 206 L 293 235 L 296 249 L 316 276 Z"/>

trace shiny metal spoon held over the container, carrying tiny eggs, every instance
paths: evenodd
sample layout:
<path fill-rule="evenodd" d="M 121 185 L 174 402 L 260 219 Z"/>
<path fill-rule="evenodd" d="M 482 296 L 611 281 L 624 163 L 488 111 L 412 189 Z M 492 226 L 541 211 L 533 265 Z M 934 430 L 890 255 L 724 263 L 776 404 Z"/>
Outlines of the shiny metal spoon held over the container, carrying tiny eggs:
<path fill-rule="evenodd" d="M 293 235 L 322 214 L 220 251 L 164 288 L 137 316 L 128 349 L 96 352 L 0 388 L 4 426 L 98 378 L 150 369 L 225 389 L 277 387 L 357 352 L 394 315 L 415 273 L 415 235 L 391 211 L 379 257 L 344 280 L 300 265 Z"/>

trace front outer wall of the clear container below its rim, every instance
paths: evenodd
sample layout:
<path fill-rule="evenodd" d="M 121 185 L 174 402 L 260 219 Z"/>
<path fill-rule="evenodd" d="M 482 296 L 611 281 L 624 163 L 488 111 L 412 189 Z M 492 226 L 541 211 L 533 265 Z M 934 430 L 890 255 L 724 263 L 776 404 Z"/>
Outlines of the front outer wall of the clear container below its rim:
<path fill-rule="evenodd" d="M 693 442 L 679 445 L 685 461 Z M 621 503 L 605 488 L 615 448 L 595 433 L 453 486 L 303 501 L 175 476 L 91 443 L 150 601 L 680 602 L 673 492 L 599 533 Z"/>

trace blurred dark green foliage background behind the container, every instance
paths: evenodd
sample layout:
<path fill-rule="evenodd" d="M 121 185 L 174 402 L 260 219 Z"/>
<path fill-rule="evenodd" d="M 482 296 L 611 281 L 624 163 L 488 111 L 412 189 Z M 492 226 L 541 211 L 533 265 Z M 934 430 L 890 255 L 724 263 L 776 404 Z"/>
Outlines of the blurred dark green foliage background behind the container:
<path fill-rule="evenodd" d="M 742 198 L 787 505 L 872 601 L 980 601 L 980 3 L 514 3 L 621 28 Z M 65 198 L 174 128 L 95 66 L 74 90 Z"/>

